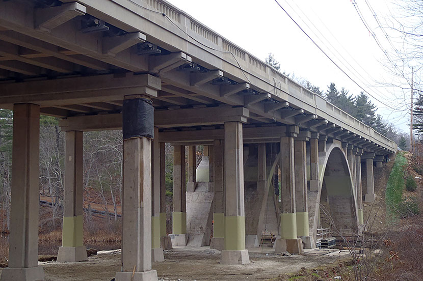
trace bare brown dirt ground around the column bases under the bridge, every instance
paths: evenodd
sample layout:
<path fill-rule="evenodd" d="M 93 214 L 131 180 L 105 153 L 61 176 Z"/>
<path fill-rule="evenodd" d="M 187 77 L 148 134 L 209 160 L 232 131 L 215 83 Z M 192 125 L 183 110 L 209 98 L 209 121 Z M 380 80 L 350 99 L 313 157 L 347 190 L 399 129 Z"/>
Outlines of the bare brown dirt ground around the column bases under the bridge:
<path fill-rule="evenodd" d="M 348 258 L 348 252 L 339 250 L 312 250 L 284 257 L 272 253 L 269 247 L 250 250 L 248 265 L 221 265 L 219 251 L 208 247 L 182 248 L 165 251 L 165 262 L 153 263 L 153 269 L 157 270 L 159 280 L 268 280 L 283 273 L 296 273 L 302 267 L 316 268 Z M 96 255 L 87 262 L 47 262 L 42 266 L 46 281 L 110 281 L 120 270 L 120 252 Z"/>

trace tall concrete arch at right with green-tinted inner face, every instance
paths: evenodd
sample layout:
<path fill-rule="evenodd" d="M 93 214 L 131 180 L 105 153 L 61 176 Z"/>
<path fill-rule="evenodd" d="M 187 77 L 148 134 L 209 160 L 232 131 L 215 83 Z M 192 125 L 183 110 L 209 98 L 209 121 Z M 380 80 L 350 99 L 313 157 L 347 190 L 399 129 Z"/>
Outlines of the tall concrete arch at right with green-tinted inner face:
<path fill-rule="evenodd" d="M 319 153 L 319 188 L 308 193 L 310 235 L 316 239 L 322 190 L 327 191 L 330 216 L 334 227 L 342 233 L 358 231 L 357 198 L 347 155 L 341 143 L 326 145 Z"/>

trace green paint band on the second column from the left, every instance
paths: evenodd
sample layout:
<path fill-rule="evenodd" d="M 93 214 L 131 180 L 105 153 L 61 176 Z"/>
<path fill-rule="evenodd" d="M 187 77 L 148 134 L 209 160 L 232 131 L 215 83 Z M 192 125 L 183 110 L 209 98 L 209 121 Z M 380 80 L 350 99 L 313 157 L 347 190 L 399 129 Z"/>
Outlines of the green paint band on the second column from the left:
<path fill-rule="evenodd" d="M 84 228 L 83 216 L 63 218 L 62 246 L 79 247 L 83 245 Z"/>

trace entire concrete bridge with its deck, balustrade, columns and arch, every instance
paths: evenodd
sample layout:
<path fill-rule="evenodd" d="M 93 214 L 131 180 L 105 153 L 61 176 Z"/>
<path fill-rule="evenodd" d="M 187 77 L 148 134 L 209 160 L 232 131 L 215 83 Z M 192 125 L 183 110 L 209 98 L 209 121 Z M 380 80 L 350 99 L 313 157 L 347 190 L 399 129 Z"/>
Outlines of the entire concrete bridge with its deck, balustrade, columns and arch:
<path fill-rule="evenodd" d="M 396 151 L 383 135 L 162 0 L 0 1 L 0 107 L 14 111 L 10 258 L 2 281 L 43 279 L 40 114 L 61 118 L 66 131 L 59 261 L 86 259 L 83 132 L 123 130 L 116 280 L 157 280 L 151 262 L 163 260 L 163 247 L 208 243 L 212 219 L 211 242 L 223 250 L 223 264 L 248 263 L 246 243 L 256 245 L 263 231 L 278 232 L 275 251 L 312 247 L 322 202 L 334 228 L 357 232 L 363 198 L 375 199 L 373 166 Z M 170 236 L 165 143 L 174 147 Z M 202 181 L 196 145 L 208 151 Z M 206 207 L 197 214 L 200 205 Z"/>

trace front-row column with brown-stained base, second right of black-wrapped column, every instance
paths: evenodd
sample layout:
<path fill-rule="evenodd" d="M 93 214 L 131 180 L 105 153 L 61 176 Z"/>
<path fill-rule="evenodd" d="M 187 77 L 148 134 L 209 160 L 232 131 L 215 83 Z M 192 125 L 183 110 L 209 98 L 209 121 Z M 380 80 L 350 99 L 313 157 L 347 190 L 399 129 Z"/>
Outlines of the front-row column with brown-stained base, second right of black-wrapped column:
<path fill-rule="evenodd" d="M 298 253 L 303 251 L 301 239 L 297 239 L 295 200 L 294 137 L 297 136 L 298 132 L 297 126 L 288 127 L 287 136 L 282 137 L 280 142 L 282 212 L 280 219 L 281 239 L 276 240 L 276 252 Z"/>

